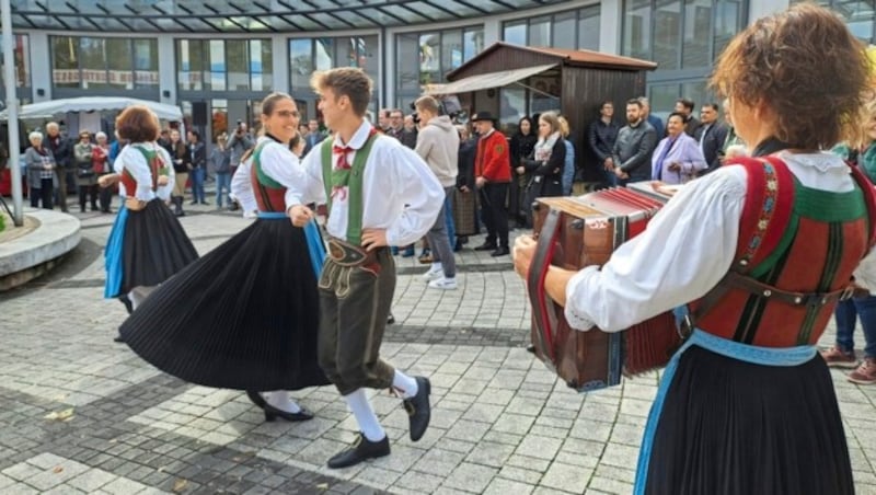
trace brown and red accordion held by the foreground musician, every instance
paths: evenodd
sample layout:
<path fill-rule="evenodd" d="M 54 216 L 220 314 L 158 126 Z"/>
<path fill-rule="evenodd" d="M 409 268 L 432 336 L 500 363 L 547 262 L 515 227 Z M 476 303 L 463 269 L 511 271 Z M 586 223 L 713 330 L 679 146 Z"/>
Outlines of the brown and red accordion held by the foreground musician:
<path fill-rule="evenodd" d="M 602 265 L 626 240 L 645 230 L 669 196 L 649 183 L 579 197 L 539 198 L 533 205 L 538 248 L 528 276 L 535 355 L 578 391 L 602 389 L 665 366 L 681 337 L 671 312 L 616 333 L 572 329 L 563 308 L 544 290 L 548 267 Z M 618 308 L 618 311 L 623 311 Z"/>

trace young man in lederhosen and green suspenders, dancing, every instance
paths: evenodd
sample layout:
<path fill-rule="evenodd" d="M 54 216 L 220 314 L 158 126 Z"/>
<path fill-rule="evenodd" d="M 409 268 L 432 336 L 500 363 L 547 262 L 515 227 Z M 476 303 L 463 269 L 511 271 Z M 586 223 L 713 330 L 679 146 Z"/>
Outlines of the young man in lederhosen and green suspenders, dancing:
<path fill-rule="evenodd" d="M 318 72 L 311 81 L 334 138 L 302 163 L 289 188 L 287 210 L 296 226 L 327 203 L 330 256 L 320 290 L 320 366 L 337 387 L 361 430 L 348 449 L 328 460 L 345 468 L 390 453 L 389 439 L 365 389 L 392 388 L 403 399 L 416 441 L 429 424 L 429 380 L 408 377 L 380 358 L 380 344 L 395 289 L 389 245 L 406 245 L 428 232 L 443 204 L 443 188 L 426 163 L 365 119 L 371 80 L 360 69 Z"/>

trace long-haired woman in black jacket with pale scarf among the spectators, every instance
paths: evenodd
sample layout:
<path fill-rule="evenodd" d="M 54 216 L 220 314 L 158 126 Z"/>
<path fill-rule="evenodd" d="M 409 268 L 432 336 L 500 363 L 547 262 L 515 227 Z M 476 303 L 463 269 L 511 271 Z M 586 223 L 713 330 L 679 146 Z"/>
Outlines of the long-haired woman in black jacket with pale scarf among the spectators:
<path fill-rule="evenodd" d="M 561 136 L 560 118 L 553 112 L 539 116 L 539 140 L 532 153 L 520 161 L 518 175 L 531 176 L 526 192 L 526 205 L 535 198 L 563 195 L 563 169 L 566 164 L 566 143 Z M 526 209 L 527 225 L 532 226 L 532 208 Z"/>

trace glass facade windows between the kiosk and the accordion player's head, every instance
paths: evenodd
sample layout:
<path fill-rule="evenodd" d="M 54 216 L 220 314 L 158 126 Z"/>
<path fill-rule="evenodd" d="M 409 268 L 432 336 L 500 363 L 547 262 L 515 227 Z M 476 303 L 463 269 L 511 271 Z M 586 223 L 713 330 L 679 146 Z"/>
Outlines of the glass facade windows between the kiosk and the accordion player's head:
<path fill-rule="evenodd" d="M 624 0 L 621 54 L 658 64 L 648 73 L 655 113 L 665 116 L 679 97 L 711 102 L 712 64 L 746 25 L 746 8 L 744 0 Z"/>

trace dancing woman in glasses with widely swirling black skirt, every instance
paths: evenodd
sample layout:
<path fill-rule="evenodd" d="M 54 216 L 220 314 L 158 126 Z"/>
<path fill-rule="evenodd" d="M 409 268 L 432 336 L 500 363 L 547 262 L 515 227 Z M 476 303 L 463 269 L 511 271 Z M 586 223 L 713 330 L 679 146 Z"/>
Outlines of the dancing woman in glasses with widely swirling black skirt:
<path fill-rule="evenodd" d="M 249 184 L 232 182 L 237 197 L 254 197 L 257 220 L 162 285 L 120 329 L 130 348 L 162 371 L 247 391 L 265 421 L 312 418 L 289 391 L 328 384 L 316 361 L 325 250 L 315 223 L 293 227 L 286 214 L 286 191 L 300 166 L 289 150 L 298 119 L 289 95 L 265 97 L 265 135 Z M 245 172 L 239 168 L 235 176 Z"/>

